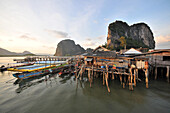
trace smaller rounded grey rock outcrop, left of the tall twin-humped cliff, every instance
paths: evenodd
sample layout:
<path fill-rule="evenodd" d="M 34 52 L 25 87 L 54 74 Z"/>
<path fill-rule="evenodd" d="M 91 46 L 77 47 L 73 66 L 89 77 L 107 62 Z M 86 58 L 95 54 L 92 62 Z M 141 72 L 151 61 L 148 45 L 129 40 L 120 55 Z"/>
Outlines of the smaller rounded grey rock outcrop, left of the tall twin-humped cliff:
<path fill-rule="evenodd" d="M 54 56 L 70 56 L 84 53 L 85 50 L 73 40 L 66 39 L 58 43 Z"/>

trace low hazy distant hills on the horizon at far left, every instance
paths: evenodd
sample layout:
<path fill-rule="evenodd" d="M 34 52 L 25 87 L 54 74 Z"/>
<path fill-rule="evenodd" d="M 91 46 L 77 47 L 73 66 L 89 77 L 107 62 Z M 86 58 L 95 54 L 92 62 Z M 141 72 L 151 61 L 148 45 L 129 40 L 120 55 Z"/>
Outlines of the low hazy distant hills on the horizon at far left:
<path fill-rule="evenodd" d="M 11 52 L 6 49 L 0 48 L 0 56 L 29 56 L 29 55 L 35 55 L 29 51 L 24 51 L 22 53 L 17 53 L 17 52 Z"/>

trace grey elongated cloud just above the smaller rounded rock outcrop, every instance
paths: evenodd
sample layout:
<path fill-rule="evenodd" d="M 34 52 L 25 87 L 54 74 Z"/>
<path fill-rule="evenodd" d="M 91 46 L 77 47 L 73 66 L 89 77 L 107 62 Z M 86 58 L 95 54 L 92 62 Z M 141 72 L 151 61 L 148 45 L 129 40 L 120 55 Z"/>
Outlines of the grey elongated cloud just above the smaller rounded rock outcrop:
<path fill-rule="evenodd" d="M 63 31 L 56 31 L 56 30 L 45 30 L 45 31 L 47 31 L 50 35 L 56 38 L 69 38 L 68 33 Z"/>

